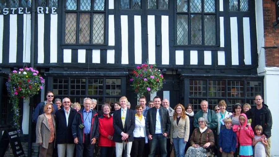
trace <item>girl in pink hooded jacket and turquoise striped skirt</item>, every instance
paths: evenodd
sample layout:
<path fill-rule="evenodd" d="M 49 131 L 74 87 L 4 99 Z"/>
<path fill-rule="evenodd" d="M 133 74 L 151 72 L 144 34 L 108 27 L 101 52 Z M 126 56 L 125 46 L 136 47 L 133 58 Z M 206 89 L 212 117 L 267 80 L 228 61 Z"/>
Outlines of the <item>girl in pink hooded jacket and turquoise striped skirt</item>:
<path fill-rule="evenodd" d="M 244 113 L 239 116 L 240 125 L 234 125 L 233 131 L 237 134 L 239 141 L 239 156 L 251 156 L 253 155 L 252 138 L 254 138 L 254 132 L 250 125 L 247 125 L 247 117 Z"/>

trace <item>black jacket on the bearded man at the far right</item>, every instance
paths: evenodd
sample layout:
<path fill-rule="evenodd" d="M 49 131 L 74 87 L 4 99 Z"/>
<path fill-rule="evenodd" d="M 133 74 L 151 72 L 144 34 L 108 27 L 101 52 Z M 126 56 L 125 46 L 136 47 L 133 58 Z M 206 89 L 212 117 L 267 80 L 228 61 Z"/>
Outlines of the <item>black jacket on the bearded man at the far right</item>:
<path fill-rule="evenodd" d="M 271 128 L 272 128 L 272 116 L 271 112 L 268 109 L 266 104 L 263 104 L 262 113 L 260 115 L 256 115 L 257 107 L 253 107 L 250 110 L 248 110 L 245 114 L 247 116 L 247 119 L 252 119 L 251 127 L 254 130 L 255 126 L 257 125 L 256 122 L 256 116 L 259 116 L 260 124 L 263 127 L 263 134 L 265 134 L 266 138 L 271 137 Z M 255 130 L 254 130 L 255 131 Z"/>

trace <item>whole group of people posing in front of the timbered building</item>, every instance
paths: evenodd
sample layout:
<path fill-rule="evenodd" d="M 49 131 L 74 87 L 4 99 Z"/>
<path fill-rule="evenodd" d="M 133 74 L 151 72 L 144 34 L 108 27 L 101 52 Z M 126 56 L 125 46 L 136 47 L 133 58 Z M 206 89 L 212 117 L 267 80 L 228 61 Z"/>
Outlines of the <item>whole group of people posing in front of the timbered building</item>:
<path fill-rule="evenodd" d="M 98 113 L 95 99 L 84 98 L 81 108 L 77 103 L 71 106 L 67 97 L 55 99 L 53 105 L 53 98 L 47 92 L 47 100 L 33 114 L 39 156 L 52 156 L 55 145 L 61 157 L 94 156 L 97 141 L 102 157 L 153 157 L 156 150 L 161 157 L 171 151 L 176 157 L 270 156 L 272 116 L 260 95 L 255 97 L 255 107 L 244 104 L 242 110 L 241 104 L 235 104 L 232 113 L 224 100 L 216 112 L 203 100 L 196 114 L 191 104 L 179 103 L 172 109 L 159 96 L 147 105 L 141 96 L 135 110 L 123 96 L 114 103 L 113 114 L 110 103 L 104 103 Z"/>

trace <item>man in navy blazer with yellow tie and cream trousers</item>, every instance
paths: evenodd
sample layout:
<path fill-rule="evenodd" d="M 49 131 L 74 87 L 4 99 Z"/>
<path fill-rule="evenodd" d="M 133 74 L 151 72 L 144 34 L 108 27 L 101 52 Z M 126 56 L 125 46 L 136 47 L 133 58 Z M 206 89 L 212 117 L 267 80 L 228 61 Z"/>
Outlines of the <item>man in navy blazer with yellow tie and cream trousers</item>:
<path fill-rule="evenodd" d="M 132 142 L 134 141 L 135 113 L 127 108 L 128 99 L 125 96 L 121 97 L 119 102 L 121 109 L 113 113 L 113 141 L 115 142 L 116 157 L 122 156 L 123 145 L 126 141 L 127 157 L 130 157 Z"/>

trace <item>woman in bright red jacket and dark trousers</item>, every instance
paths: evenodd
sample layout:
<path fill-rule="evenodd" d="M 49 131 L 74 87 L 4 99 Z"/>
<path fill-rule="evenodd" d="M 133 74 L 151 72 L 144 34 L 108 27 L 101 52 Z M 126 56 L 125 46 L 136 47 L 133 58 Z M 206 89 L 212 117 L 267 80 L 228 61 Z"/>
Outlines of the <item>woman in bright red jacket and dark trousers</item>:
<path fill-rule="evenodd" d="M 113 116 L 110 115 L 110 104 L 102 105 L 103 115 L 99 118 L 99 143 L 101 147 L 101 157 L 112 157 L 115 150 L 113 141 Z"/>

